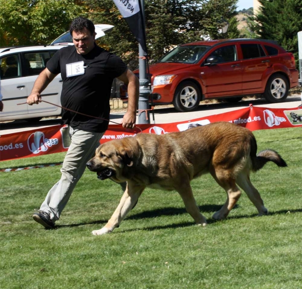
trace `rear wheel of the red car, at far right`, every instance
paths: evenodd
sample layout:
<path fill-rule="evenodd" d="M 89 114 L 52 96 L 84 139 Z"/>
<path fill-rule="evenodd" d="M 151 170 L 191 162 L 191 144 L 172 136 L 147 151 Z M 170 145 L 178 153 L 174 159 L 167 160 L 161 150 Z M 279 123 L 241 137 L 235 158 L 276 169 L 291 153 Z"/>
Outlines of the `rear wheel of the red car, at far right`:
<path fill-rule="evenodd" d="M 264 98 L 270 103 L 281 103 L 288 95 L 289 84 L 282 74 L 272 75 L 265 87 Z"/>

